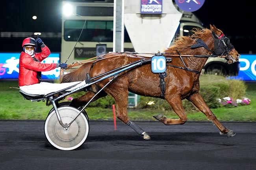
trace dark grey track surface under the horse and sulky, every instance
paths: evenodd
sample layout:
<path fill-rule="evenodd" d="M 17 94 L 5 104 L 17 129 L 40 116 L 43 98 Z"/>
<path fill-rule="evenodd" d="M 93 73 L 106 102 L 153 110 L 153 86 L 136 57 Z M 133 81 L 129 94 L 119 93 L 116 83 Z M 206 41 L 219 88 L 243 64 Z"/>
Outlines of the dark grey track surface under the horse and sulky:
<path fill-rule="evenodd" d="M 72 151 L 54 148 L 44 121 L 0 121 L 0 170 L 255 170 L 256 122 L 223 122 L 237 133 L 219 135 L 211 122 L 165 126 L 134 121 L 143 140 L 117 121 L 89 121 L 85 143 Z"/>

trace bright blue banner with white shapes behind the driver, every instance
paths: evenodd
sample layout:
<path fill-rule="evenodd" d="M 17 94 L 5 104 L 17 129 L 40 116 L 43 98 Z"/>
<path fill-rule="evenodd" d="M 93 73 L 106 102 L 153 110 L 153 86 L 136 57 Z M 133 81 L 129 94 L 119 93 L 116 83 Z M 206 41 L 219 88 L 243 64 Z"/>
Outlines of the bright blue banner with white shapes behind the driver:
<path fill-rule="evenodd" d="M 20 53 L 0 53 L 0 79 L 18 79 Z M 59 53 L 51 53 L 43 63 L 58 63 Z M 60 68 L 43 71 L 42 79 L 59 79 Z"/>

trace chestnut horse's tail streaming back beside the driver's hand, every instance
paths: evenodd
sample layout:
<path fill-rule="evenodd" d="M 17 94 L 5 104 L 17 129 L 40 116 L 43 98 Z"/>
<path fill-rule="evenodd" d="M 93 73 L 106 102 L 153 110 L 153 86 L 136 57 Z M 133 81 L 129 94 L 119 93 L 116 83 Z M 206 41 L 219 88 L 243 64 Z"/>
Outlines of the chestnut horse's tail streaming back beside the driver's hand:
<path fill-rule="evenodd" d="M 91 69 L 91 63 L 84 64 L 80 66 L 80 68 L 78 69 L 73 69 L 70 71 L 70 73 L 63 75 L 61 79 L 61 83 L 83 81 L 87 79 L 86 74 L 89 73 L 90 69 Z"/>

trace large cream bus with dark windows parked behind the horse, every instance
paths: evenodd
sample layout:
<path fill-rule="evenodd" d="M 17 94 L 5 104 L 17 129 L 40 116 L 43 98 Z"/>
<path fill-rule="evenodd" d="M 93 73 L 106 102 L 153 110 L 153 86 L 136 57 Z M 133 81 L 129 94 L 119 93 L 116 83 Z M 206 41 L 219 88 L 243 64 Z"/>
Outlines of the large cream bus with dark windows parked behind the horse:
<path fill-rule="evenodd" d="M 113 51 L 113 3 L 109 2 L 65 2 L 70 4 L 75 15 L 62 16 L 61 62 L 82 61 Z M 182 13 L 180 25 L 175 37 L 187 36 L 195 27 L 203 29 L 203 24 L 191 12 L 176 9 Z M 76 44 L 76 41 L 79 41 Z M 174 43 L 171 43 L 171 45 Z M 74 47 L 74 45 L 76 46 Z M 99 48 L 98 48 L 99 47 Z M 71 53 L 72 51 L 72 53 Z M 134 52 L 132 42 L 124 27 L 124 51 Z M 71 53 L 71 54 L 70 54 Z M 239 62 L 226 64 L 224 58 L 209 58 L 204 66 L 204 73 L 236 76 Z"/>

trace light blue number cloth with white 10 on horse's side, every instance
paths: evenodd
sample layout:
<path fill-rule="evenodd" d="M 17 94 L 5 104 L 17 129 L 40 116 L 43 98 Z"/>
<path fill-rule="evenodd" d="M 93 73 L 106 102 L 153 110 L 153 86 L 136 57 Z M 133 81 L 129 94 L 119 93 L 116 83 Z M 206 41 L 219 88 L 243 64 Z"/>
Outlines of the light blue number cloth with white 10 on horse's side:
<path fill-rule="evenodd" d="M 162 55 L 155 55 L 151 58 L 151 71 L 153 73 L 164 73 L 166 71 L 166 58 Z"/>

